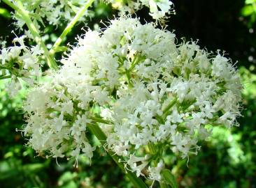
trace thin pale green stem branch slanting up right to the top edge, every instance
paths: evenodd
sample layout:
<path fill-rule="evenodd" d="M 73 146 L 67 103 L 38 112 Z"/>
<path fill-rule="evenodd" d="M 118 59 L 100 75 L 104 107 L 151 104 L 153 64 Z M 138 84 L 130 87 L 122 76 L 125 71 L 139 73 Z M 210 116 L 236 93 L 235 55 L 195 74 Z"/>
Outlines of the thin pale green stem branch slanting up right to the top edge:
<path fill-rule="evenodd" d="M 64 29 L 62 34 L 59 36 L 59 38 L 57 38 L 57 40 L 56 40 L 55 44 L 53 45 L 52 49 L 50 49 L 50 54 L 55 54 L 57 47 L 59 47 L 59 45 L 64 40 L 65 36 L 71 31 L 71 29 L 76 24 L 76 22 L 78 22 L 78 19 L 80 19 L 80 17 L 82 17 L 84 15 L 85 10 L 87 10 L 87 8 L 89 8 L 92 5 L 93 1 L 94 0 L 89 0 L 87 3 L 85 3 L 85 5 L 82 8 L 80 8 L 80 10 L 76 14 L 76 16 L 73 17 L 73 19 L 66 26 L 66 28 Z"/>

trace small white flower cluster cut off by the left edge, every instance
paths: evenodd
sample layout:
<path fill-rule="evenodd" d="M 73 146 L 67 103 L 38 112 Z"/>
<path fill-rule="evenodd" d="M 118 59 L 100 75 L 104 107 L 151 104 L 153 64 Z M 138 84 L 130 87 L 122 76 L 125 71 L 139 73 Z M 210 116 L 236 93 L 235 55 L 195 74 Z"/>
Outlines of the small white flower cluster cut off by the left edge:
<path fill-rule="evenodd" d="M 29 86 L 41 75 L 39 57 L 43 52 L 38 47 L 27 47 L 24 45 L 26 36 L 13 39 L 12 47 L 3 47 L 0 53 L 0 79 L 11 78 L 6 84 L 6 91 L 14 96 L 20 90 L 20 81 L 25 81 Z"/>

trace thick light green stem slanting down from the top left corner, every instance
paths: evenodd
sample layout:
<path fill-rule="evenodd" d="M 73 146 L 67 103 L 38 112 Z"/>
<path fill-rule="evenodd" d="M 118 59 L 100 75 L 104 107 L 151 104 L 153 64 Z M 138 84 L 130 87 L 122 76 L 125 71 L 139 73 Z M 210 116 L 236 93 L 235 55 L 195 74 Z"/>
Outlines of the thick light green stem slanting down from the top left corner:
<path fill-rule="evenodd" d="M 58 66 L 57 63 L 55 62 L 55 59 L 53 56 L 50 54 L 48 51 L 47 47 L 45 46 L 45 43 L 43 42 L 38 29 L 36 26 L 33 24 L 32 20 L 30 19 L 29 12 L 27 10 L 24 10 L 24 7 L 22 6 L 22 2 L 17 1 L 17 5 L 11 3 L 8 0 L 2 0 L 3 3 L 6 3 L 10 8 L 13 8 L 17 13 L 20 14 L 24 22 L 27 24 L 27 27 L 29 28 L 29 31 L 31 32 L 32 36 L 34 37 L 34 40 L 36 40 L 36 43 L 43 49 L 44 55 L 47 59 L 47 63 L 50 68 L 57 70 Z"/>

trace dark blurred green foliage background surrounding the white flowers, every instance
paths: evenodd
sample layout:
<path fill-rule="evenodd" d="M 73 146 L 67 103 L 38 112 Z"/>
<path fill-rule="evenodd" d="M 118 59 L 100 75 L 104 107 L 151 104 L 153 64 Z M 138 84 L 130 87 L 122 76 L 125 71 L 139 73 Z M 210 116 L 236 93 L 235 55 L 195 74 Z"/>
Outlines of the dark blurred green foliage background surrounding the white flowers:
<path fill-rule="evenodd" d="M 166 155 L 180 187 L 256 187 L 256 0 L 173 0 L 176 15 L 166 20 L 167 29 L 175 31 L 178 40 L 197 40 L 208 51 L 225 51 L 232 58 L 244 85 L 240 127 L 226 130 L 217 127 L 213 137 L 200 143 L 197 156 L 177 159 Z M 117 11 L 104 3 L 94 3 L 87 26 L 97 29 L 117 15 Z M 141 22 L 150 22 L 148 9 L 136 13 Z M 98 24 L 97 24 L 98 23 Z M 83 33 L 85 23 L 77 24 L 66 42 L 73 44 Z M 14 29 L 10 8 L 0 2 L 0 40 L 11 45 Z M 45 42 L 49 47 L 64 28 L 45 28 Z M 17 35 L 22 34 L 15 31 Z M 60 56 L 60 55 L 59 55 Z M 10 99 L 0 82 L 0 187 L 132 187 L 102 148 L 94 157 L 81 159 L 78 169 L 73 160 L 44 159 L 25 146 L 22 99 L 24 92 Z"/>

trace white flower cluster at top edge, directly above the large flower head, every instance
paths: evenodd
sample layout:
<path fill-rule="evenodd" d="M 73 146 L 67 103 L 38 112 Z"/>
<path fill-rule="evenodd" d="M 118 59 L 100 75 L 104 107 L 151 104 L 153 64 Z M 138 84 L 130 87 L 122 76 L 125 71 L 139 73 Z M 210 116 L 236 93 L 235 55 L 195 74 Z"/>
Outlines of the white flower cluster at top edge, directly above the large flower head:
<path fill-rule="evenodd" d="M 140 10 L 143 6 L 150 8 L 150 15 L 153 19 L 162 19 L 167 14 L 171 13 L 171 6 L 173 3 L 169 0 L 106 0 L 112 4 L 114 8 L 119 9 L 121 12 L 134 13 Z"/>

